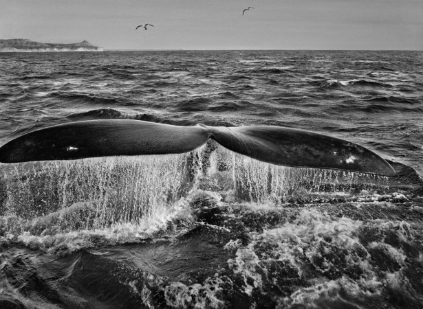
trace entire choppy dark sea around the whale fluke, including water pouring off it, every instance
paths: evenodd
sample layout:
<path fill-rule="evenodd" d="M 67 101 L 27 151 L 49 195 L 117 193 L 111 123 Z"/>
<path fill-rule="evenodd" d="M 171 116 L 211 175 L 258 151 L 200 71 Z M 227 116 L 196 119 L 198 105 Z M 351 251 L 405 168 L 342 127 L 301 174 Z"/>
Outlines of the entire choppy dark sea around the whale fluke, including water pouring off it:
<path fill-rule="evenodd" d="M 422 52 L 0 54 L 0 144 L 87 119 L 267 124 L 356 142 L 397 171 L 221 146 L 206 161 L 210 148 L 1 164 L 0 307 L 422 307 L 422 89 Z"/>

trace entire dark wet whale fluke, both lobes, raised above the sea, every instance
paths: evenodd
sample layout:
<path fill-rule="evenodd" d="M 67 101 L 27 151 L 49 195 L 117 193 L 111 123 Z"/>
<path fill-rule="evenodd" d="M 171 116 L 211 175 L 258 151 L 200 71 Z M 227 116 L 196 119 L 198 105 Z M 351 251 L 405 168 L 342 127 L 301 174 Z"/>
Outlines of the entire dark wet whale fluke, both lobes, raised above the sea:
<path fill-rule="evenodd" d="M 163 155 L 195 150 L 208 139 L 254 159 L 293 167 L 394 176 L 376 153 L 358 144 L 280 126 L 172 126 L 108 119 L 50 126 L 0 147 L 0 162 L 69 160 L 119 155 Z"/>

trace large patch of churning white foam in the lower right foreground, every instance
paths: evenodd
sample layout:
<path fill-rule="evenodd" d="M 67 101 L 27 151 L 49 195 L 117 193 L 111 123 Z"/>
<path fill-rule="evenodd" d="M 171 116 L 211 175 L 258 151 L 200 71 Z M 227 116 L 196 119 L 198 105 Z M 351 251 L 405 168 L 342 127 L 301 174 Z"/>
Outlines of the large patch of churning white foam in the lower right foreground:
<path fill-rule="evenodd" d="M 370 243 L 364 239 L 369 229 L 375 229 L 373 236 L 389 232 L 410 242 L 413 230 L 409 224 L 362 222 L 314 209 L 300 209 L 294 214 L 294 219 L 279 227 L 251 233 L 252 242 L 246 247 L 230 247 L 237 249 L 237 254 L 228 260 L 228 265 L 243 278 L 247 292 L 263 288 L 263 277 L 272 276 L 275 262 L 290 269 L 293 277 L 310 282 L 310 287 L 281 298 L 280 308 L 320 308 L 325 304 L 331 308 L 330 304 L 355 308 L 367 297 L 382 295 L 384 287 L 403 284 L 404 278 L 398 277 L 398 269 L 407 264 L 402 249 L 381 239 Z M 310 269 L 322 276 L 310 275 Z M 359 275 L 353 279 L 354 276 L 345 275 L 349 272 Z M 341 274 L 344 275 L 328 280 Z"/>

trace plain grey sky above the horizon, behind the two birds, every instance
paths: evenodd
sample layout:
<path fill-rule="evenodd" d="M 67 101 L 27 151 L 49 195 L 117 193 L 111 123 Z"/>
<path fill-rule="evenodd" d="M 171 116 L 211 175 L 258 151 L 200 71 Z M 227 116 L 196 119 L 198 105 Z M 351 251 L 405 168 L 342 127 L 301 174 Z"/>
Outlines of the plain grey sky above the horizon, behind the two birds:
<path fill-rule="evenodd" d="M 154 27 L 135 30 L 144 23 Z M 0 38 L 105 49 L 423 50 L 423 0 L 0 0 Z"/>

